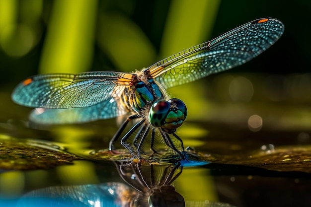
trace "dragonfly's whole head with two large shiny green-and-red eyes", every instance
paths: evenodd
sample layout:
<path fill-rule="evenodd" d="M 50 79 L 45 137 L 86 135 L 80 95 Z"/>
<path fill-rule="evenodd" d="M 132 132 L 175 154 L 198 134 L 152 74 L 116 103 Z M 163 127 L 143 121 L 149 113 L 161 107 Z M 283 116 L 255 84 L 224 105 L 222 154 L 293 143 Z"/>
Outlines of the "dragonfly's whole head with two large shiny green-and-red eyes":
<path fill-rule="evenodd" d="M 164 132 L 171 134 L 182 125 L 186 116 L 186 105 L 180 99 L 160 99 L 155 101 L 149 111 L 149 122 L 152 126 L 161 127 Z"/>

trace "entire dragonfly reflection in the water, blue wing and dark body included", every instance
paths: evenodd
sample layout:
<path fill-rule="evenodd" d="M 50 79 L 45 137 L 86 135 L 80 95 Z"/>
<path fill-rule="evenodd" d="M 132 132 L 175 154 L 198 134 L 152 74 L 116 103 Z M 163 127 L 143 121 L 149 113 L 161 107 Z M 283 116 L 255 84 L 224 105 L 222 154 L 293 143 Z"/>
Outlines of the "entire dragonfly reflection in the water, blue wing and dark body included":
<path fill-rule="evenodd" d="M 126 184 L 56 186 L 24 195 L 17 207 L 232 207 L 229 204 L 186 201 L 172 183 L 182 173 L 180 164 L 127 165 L 115 163 Z M 128 185 L 127 185 L 128 184 Z M 199 193 L 199 192 L 198 192 Z"/>

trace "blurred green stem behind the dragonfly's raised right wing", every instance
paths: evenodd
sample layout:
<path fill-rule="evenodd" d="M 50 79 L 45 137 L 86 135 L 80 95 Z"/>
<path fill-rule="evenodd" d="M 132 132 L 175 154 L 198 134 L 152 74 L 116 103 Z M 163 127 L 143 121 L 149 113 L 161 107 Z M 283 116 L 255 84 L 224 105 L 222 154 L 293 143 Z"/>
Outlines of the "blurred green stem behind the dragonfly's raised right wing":
<path fill-rule="evenodd" d="M 163 33 L 160 58 L 209 40 L 220 0 L 173 0 Z"/>

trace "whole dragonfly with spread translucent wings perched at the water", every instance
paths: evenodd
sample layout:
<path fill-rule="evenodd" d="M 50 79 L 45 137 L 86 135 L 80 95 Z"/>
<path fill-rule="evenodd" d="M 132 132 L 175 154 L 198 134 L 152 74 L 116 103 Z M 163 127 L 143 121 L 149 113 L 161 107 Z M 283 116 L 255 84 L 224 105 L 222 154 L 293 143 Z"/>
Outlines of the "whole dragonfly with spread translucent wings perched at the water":
<path fill-rule="evenodd" d="M 30 121 L 45 124 L 89 122 L 132 112 L 111 138 L 111 152 L 122 136 L 121 144 L 141 158 L 149 136 L 156 153 L 157 136 L 184 156 L 176 129 L 184 123 L 187 107 L 180 99 L 169 98 L 165 90 L 242 65 L 273 45 L 283 32 L 284 25 L 276 18 L 256 19 L 141 71 L 39 74 L 20 82 L 11 97 L 17 104 L 36 108 Z M 127 141 L 130 137 L 132 143 Z M 179 148 L 173 140 L 179 141 Z"/>

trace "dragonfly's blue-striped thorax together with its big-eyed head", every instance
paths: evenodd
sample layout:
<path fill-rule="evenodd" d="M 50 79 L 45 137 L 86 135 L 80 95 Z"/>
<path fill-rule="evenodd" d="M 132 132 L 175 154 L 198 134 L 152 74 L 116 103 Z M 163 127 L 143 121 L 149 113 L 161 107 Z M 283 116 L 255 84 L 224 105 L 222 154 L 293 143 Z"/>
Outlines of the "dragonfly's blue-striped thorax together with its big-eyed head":
<path fill-rule="evenodd" d="M 148 70 L 138 76 L 139 81 L 127 92 L 128 106 L 141 116 L 148 116 L 153 127 L 171 134 L 180 127 L 187 116 L 184 102 L 177 98 L 165 100 L 162 92 L 153 78 L 149 78 Z M 147 112 L 147 113 L 145 113 Z"/>

